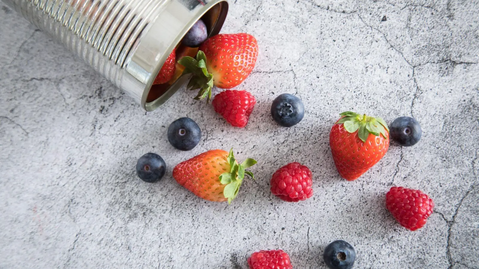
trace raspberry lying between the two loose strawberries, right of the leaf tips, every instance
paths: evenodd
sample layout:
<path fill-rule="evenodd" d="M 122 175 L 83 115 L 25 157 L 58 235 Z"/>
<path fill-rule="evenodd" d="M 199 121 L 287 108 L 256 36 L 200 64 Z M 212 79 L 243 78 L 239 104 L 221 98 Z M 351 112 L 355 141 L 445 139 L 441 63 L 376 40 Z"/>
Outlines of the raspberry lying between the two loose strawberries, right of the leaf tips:
<path fill-rule="evenodd" d="M 271 178 L 271 192 L 286 202 L 298 202 L 313 196 L 313 174 L 308 167 L 294 162 L 279 168 Z"/>

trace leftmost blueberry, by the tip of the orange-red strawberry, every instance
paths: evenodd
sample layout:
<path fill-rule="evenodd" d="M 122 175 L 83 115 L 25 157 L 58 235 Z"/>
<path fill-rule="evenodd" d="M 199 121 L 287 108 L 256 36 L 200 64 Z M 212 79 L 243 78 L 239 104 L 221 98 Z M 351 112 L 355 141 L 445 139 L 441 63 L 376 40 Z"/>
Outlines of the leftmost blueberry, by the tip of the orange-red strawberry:
<path fill-rule="evenodd" d="M 138 177 L 148 183 L 160 180 L 166 171 L 166 164 L 160 155 L 147 153 L 140 157 L 137 162 Z"/>

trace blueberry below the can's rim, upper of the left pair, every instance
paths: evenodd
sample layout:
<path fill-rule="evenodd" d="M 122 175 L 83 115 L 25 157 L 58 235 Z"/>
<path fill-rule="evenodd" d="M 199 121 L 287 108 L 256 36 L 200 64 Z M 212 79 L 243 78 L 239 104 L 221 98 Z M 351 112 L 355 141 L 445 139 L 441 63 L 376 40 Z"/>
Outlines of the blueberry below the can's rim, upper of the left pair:
<path fill-rule="evenodd" d="M 190 118 L 179 118 L 168 127 L 168 141 L 177 149 L 191 150 L 198 145 L 200 139 L 200 127 Z"/>

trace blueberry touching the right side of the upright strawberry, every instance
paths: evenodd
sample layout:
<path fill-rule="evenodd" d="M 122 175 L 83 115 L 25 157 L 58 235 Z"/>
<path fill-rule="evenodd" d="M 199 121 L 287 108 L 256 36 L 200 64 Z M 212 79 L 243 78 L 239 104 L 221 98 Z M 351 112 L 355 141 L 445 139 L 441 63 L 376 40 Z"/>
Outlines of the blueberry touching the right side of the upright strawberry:
<path fill-rule="evenodd" d="M 421 125 L 411 117 L 399 117 L 389 126 L 391 138 L 401 146 L 414 146 L 421 140 Z"/>

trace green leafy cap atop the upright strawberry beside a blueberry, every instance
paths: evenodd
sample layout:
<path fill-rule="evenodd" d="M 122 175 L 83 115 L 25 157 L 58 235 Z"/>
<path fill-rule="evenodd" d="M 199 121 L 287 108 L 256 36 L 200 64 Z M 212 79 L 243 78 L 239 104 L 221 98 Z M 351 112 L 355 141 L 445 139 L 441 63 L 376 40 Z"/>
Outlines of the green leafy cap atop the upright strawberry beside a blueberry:
<path fill-rule="evenodd" d="M 343 124 L 348 133 L 358 132 L 358 137 L 366 142 L 369 134 L 376 136 L 382 135 L 388 139 L 386 131 L 389 132 L 388 124 L 382 118 L 369 117 L 366 114 L 362 116 L 358 113 L 347 111 L 340 114 L 342 116 L 336 124 Z"/>

